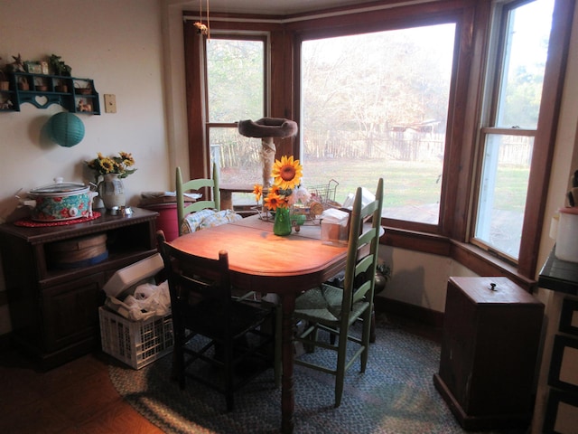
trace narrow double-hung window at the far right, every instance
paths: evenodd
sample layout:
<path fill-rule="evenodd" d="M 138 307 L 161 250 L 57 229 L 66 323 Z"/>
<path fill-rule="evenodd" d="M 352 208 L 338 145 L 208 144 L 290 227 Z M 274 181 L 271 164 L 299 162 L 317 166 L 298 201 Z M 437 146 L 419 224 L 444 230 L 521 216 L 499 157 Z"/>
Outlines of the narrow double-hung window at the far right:
<path fill-rule="evenodd" d="M 514 2 L 497 7 L 494 18 L 473 241 L 512 261 L 522 239 L 553 8 L 552 0 Z"/>

